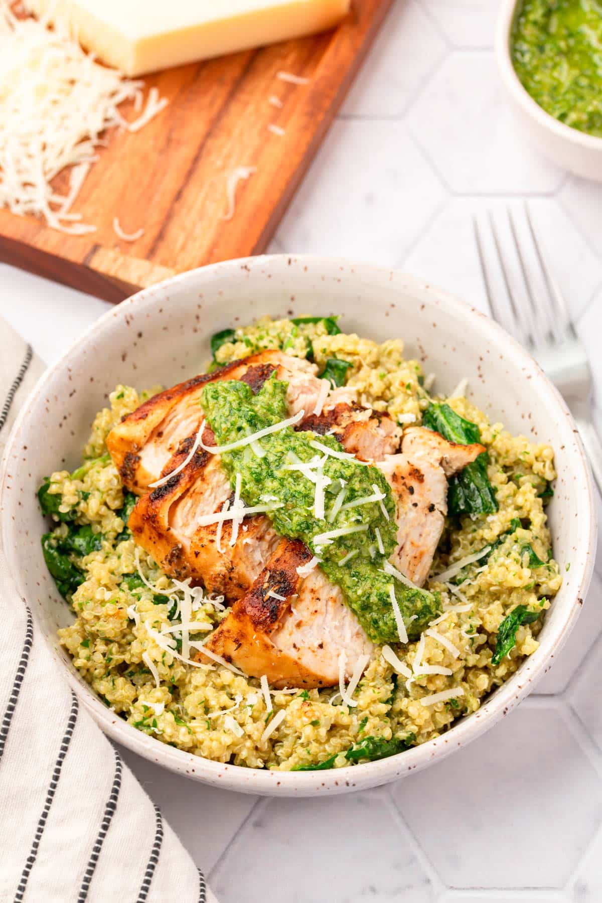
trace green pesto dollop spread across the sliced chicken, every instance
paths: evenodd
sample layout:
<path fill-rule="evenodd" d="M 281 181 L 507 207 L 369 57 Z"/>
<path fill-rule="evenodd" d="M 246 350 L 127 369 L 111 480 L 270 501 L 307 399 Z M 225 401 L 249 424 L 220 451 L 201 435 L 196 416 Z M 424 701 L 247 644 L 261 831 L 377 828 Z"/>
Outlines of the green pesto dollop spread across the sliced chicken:
<path fill-rule="evenodd" d="M 255 396 L 243 382 L 225 381 L 205 386 L 201 405 L 218 445 L 236 442 L 285 420 L 286 389 L 287 383 L 273 377 Z M 245 445 L 232 452 L 224 452 L 221 461 L 233 487 L 236 473 L 240 473 L 241 496 L 246 505 L 282 506 L 266 512 L 274 529 L 282 536 L 301 539 L 322 559 L 320 567 L 332 582 L 338 583 L 368 637 L 375 643 L 399 641 L 390 595 L 392 584 L 408 636 L 419 636 L 421 630 L 439 613 L 440 600 L 436 594 L 406 587 L 383 573 L 384 562 L 394 550 L 396 533 L 394 499 L 386 479 L 375 467 L 352 459 L 341 461 L 328 457 L 324 462 L 324 473 L 330 479 L 324 490 L 326 517 L 343 486 L 347 489 L 347 504 L 356 498 L 374 495 L 374 484 L 385 495 L 383 504 L 389 519 L 384 517 L 377 501 L 343 508 L 332 523 L 317 518 L 313 511 L 314 483 L 299 470 L 285 469 L 294 463 L 291 453 L 304 463 L 324 457 L 323 452 L 312 448 L 310 442 L 320 442 L 334 452 L 342 451 L 332 436 L 297 433 L 292 427 L 285 427 L 260 440 L 265 452 L 263 457 L 257 457 L 252 447 Z M 365 529 L 338 536 L 331 545 L 320 545 L 314 541 L 317 535 L 347 526 L 363 526 Z M 378 553 L 376 528 L 380 531 L 384 555 Z M 353 557 L 339 565 L 350 553 Z M 412 619 L 413 616 L 416 617 Z"/>

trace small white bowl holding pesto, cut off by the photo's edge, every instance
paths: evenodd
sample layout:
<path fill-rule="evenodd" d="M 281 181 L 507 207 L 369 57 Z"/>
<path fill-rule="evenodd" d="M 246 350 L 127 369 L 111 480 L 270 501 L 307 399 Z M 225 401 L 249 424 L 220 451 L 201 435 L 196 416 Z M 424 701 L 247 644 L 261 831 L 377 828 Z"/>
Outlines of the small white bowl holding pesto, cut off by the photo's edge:
<path fill-rule="evenodd" d="M 525 138 L 563 169 L 602 182 L 602 138 L 565 126 L 540 107 L 523 88 L 512 63 L 514 17 L 522 0 L 503 0 L 495 33 L 495 56 L 512 98 L 514 116 Z"/>

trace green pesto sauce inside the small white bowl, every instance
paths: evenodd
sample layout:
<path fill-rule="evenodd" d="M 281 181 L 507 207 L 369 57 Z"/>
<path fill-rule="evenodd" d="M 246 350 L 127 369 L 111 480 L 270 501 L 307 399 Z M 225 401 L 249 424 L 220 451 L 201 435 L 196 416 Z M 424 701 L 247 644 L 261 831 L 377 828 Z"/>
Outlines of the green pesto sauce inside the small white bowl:
<path fill-rule="evenodd" d="M 511 50 L 516 74 L 540 107 L 602 136 L 602 3 L 524 0 Z"/>

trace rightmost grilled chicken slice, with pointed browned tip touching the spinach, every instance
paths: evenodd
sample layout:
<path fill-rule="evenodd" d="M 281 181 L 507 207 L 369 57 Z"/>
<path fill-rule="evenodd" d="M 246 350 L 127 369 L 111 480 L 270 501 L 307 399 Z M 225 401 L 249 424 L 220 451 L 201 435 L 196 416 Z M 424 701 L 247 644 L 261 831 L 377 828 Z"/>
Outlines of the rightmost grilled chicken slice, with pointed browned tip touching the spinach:
<path fill-rule="evenodd" d="M 421 426 L 403 433 L 401 454 L 377 467 L 393 489 L 397 547 L 391 563 L 417 586 L 431 570 L 448 513 L 447 478 L 485 452 L 485 446 L 457 445 Z"/>

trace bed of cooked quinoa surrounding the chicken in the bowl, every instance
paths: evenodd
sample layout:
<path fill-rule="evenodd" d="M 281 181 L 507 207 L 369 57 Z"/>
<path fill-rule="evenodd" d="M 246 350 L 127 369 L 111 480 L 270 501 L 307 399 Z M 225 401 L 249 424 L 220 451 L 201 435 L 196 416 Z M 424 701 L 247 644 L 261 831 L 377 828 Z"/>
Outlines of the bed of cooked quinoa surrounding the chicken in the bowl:
<path fill-rule="evenodd" d="M 480 430 L 498 510 L 448 517 L 427 582 L 429 590 L 440 591 L 442 614 L 428 635 L 393 647 L 412 676 L 397 674 L 377 648 L 354 694 L 357 706 L 342 703 L 336 687 L 292 688 L 272 690 L 269 711 L 254 678 L 219 664 L 191 666 L 178 657 L 178 647 L 171 652 L 165 646 L 164 638 L 171 634 L 162 631 L 177 621 L 181 591 L 150 556 L 136 549 L 126 527 L 128 494 L 105 444 L 122 416 L 153 394 L 138 395 L 129 386 L 117 386 L 109 396 L 110 407 L 97 414 L 79 470 L 57 471 L 45 487 L 46 510 L 55 522 L 51 538 L 45 539 L 51 551 L 61 548 L 61 540 L 68 542 L 73 526 L 88 527 L 81 533 L 87 545 L 78 549 L 78 557 L 68 555 L 84 579 L 72 594 L 66 592 L 75 620 L 60 629 L 60 642 L 107 706 L 157 740 L 248 768 L 290 770 L 325 762 L 337 768 L 375 758 L 361 755 L 363 741 L 371 738 L 403 738 L 410 746 L 438 737 L 458 718 L 476 712 L 481 700 L 538 647 L 543 612 L 561 583 L 544 508 L 556 477 L 553 451 L 491 424 L 465 397 L 431 395 L 420 363 L 403 358 L 401 340 L 377 345 L 357 335 L 330 333 L 329 318 L 302 324 L 264 319 L 232 330 L 216 350 L 215 362 L 271 348 L 301 358 L 311 355 L 320 371 L 329 359 L 347 362 L 345 383 L 357 389 L 357 401 L 387 411 L 403 424 L 421 424 L 435 399 L 447 400 Z M 426 385 L 431 389 L 429 379 Z M 488 554 L 446 582 L 432 576 L 484 548 Z M 87 554 L 82 557 L 82 552 Z M 226 616 L 222 603 L 195 591 L 191 620 L 199 625 L 199 638 Z M 519 619 L 514 647 L 494 664 L 499 628 L 520 607 L 529 610 L 531 623 L 520 624 Z M 451 673 L 425 675 L 421 666 Z M 442 692 L 440 702 L 427 699 Z M 283 721 L 262 739 L 282 710 Z M 349 749 L 360 751 L 349 757 Z"/>

